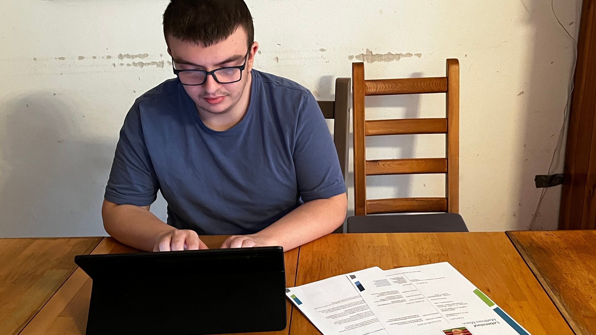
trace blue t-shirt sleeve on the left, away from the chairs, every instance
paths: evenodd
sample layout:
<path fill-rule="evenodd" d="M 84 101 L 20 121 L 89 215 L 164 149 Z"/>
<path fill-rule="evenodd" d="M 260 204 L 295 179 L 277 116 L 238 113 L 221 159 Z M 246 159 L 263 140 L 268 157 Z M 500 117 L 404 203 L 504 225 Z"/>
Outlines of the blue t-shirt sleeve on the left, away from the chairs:
<path fill-rule="evenodd" d="M 116 145 L 105 200 L 147 206 L 157 197 L 159 182 L 145 145 L 138 104 L 126 115 Z"/>

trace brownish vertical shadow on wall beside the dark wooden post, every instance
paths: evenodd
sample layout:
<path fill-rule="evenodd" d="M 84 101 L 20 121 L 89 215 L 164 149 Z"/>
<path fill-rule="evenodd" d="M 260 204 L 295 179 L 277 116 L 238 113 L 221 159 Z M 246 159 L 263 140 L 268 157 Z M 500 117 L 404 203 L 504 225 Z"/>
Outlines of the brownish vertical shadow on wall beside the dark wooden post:
<path fill-rule="evenodd" d="M 573 17 L 578 2 L 574 0 L 565 5 L 569 8 L 564 14 L 563 5 L 554 8 L 561 24 L 569 31 L 571 36 L 576 36 L 579 27 L 579 13 Z M 535 175 L 547 173 L 562 173 L 564 164 L 564 150 L 566 136 L 563 137 L 561 145 L 560 162 L 557 164 L 557 157 L 554 158 L 551 171 L 548 171 L 555 141 L 559 137 L 559 127 L 563 123 L 563 110 L 566 104 L 564 96 L 567 90 L 567 83 L 572 69 L 561 61 L 562 55 L 573 54 L 573 41 L 563 28 L 557 23 L 551 9 L 551 1 L 532 1 L 527 7 L 529 21 L 527 22 L 534 30 L 534 45 L 532 50 L 532 67 L 527 78 L 527 88 L 517 93 L 517 97 L 524 99 L 525 114 L 520 117 L 523 121 L 520 129 L 523 131 L 522 144 L 523 157 L 521 162 L 521 176 L 518 208 L 513 209 L 513 215 L 517 220 L 517 229 L 557 229 L 558 212 L 560 207 L 561 185 L 548 188 L 532 224 L 536 207 L 542 189 L 536 189 L 534 184 Z M 559 7 L 559 9 L 557 9 Z M 552 48 L 552 41 L 555 38 L 566 38 L 567 42 L 561 49 Z M 564 82 L 564 85 L 561 85 Z M 552 97 L 561 97 L 554 99 Z M 552 129 L 547 133 L 546 129 Z M 563 134 L 566 135 L 566 134 Z M 527 150 L 527 148 L 532 148 Z"/>

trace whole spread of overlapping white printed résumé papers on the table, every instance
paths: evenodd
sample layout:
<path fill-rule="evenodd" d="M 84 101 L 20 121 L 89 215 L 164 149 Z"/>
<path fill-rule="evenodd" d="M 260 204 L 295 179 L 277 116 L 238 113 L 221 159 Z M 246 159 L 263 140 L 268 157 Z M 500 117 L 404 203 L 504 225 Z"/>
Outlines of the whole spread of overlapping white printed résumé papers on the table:
<path fill-rule="evenodd" d="M 324 335 L 529 335 L 446 262 L 368 268 L 285 294 Z"/>

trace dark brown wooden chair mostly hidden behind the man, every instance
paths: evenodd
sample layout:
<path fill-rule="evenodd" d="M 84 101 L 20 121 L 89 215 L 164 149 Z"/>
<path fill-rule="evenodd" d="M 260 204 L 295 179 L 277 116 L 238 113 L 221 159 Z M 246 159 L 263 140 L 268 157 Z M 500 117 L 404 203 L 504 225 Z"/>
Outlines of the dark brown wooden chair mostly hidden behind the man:
<path fill-rule="evenodd" d="M 347 178 L 348 138 L 350 134 L 350 78 L 337 78 L 334 101 L 317 101 L 325 119 L 334 119 L 333 142 L 336 146 L 343 180 Z M 343 225 L 334 232 L 343 232 Z"/>

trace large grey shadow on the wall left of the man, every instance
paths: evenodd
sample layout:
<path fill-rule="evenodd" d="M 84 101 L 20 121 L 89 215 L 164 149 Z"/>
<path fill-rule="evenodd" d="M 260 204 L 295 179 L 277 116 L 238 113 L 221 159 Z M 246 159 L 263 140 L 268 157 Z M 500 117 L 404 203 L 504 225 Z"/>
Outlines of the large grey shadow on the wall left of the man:
<path fill-rule="evenodd" d="M 8 104 L 0 135 L 0 237 L 104 235 L 114 144 L 85 141 L 84 114 L 49 92 Z"/>

